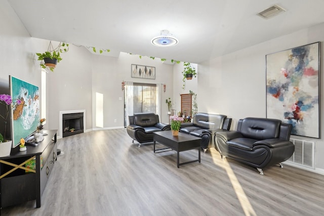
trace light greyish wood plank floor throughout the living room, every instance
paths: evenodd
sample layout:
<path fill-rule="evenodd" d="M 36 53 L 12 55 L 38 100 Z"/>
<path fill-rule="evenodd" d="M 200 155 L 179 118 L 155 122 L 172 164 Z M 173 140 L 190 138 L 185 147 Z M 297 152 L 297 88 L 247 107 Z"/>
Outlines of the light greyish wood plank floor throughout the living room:
<path fill-rule="evenodd" d="M 160 144 L 157 147 L 163 147 Z M 201 163 L 177 168 L 176 152 L 138 148 L 126 129 L 58 140 L 58 156 L 42 196 L 6 207 L 2 215 L 322 215 L 324 176 L 284 165 L 264 169 L 215 149 Z M 197 158 L 180 153 L 180 162 Z"/>

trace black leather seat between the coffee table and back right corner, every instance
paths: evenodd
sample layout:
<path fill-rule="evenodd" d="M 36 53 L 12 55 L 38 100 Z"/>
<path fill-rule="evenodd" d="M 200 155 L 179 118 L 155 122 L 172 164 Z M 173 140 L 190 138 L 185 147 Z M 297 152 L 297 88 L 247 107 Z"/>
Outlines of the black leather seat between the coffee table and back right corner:
<path fill-rule="evenodd" d="M 228 131 L 231 122 L 226 115 L 197 113 L 192 122 L 181 123 L 180 132 L 201 138 L 201 148 L 206 152 L 208 148 L 215 148 L 215 132 Z"/>

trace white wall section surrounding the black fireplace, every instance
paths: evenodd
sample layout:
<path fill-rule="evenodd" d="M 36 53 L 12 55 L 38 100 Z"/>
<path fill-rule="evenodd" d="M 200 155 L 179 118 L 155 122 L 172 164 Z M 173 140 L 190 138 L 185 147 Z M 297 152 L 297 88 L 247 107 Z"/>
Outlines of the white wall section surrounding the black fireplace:
<path fill-rule="evenodd" d="M 53 47 L 58 45 L 52 43 Z M 62 129 L 59 128 L 60 111 L 86 110 L 85 129 L 91 129 L 92 54 L 84 47 L 70 44 L 69 51 L 61 53 L 61 57 L 54 72 L 47 74 L 48 127 Z"/>

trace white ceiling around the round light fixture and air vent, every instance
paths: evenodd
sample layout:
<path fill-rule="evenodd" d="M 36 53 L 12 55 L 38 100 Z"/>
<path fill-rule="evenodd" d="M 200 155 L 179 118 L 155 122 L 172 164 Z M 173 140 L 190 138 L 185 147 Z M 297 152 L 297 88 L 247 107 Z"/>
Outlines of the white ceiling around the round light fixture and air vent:
<path fill-rule="evenodd" d="M 199 63 L 324 22 L 323 0 L 8 0 L 32 37 Z M 256 14 L 273 5 L 286 12 Z M 155 47 L 168 29 L 179 39 Z"/>

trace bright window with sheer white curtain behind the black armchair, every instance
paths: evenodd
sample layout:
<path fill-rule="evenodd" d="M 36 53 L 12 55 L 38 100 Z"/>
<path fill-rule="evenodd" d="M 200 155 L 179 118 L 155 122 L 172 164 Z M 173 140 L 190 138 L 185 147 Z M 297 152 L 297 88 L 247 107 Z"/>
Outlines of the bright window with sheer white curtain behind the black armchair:
<path fill-rule="evenodd" d="M 160 84 L 125 81 L 124 126 L 129 125 L 129 115 L 153 112 L 160 116 Z"/>

